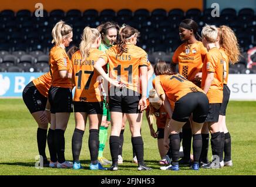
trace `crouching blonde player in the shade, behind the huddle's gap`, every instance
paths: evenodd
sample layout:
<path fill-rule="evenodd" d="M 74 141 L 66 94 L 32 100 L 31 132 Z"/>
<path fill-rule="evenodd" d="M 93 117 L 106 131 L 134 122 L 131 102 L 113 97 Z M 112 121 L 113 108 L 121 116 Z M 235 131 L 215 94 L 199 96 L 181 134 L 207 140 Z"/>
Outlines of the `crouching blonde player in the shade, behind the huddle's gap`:
<path fill-rule="evenodd" d="M 146 109 L 147 122 L 149 123 L 150 135 L 153 138 L 157 138 L 157 145 L 159 148 L 159 154 L 161 160 L 159 164 L 166 165 L 171 164 L 171 160 L 167 155 L 166 148 L 164 147 L 164 127 L 166 123 L 169 123 L 169 115 L 162 105 L 163 101 L 159 98 L 156 90 L 151 89 L 149 92 L 149 107 Z M 156 117 L 157 131 L 153 128 L 153 115 Z"/>

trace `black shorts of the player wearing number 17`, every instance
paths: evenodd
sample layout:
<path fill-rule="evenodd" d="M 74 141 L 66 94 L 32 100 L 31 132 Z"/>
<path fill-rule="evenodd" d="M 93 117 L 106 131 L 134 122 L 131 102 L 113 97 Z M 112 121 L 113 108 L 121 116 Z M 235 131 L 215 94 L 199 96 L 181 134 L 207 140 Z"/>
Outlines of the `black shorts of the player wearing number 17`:
<path fill-rule="evenodd" d="M 103 102 L 80 102 L 74 101 L 74 112 L 85 112 L 87 115 L 102 115 Z"/>

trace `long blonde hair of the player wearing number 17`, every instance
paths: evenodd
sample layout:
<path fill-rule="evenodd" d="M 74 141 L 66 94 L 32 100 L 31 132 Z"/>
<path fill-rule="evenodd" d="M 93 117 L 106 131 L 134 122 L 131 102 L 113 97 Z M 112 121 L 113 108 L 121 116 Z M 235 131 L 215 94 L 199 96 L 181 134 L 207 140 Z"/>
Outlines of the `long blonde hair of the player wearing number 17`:
<path fill-rule="evenodd" d="M 85 27 L 83 29 L 82 41 L 79 45 L 80 52 L 82 54 L 82 61 L 86 60 L 89 56 L 89 50 L 93 43 L 100 37 L 100 32 L 97 29 Z"/>

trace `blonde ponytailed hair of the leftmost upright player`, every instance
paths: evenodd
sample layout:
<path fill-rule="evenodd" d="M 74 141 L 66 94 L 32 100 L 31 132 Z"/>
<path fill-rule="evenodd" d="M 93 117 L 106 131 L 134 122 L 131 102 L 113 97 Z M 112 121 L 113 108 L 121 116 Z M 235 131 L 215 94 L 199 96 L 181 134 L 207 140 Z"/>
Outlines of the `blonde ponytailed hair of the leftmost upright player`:
<path fill-rule="evenodd" d="M 60 20 L 52 29 L 52 43 L 55 43 L 56 46 L 59 46 L 65 37 L 72 32 L 72 27 L 65 24 L 62 20 Z"/>

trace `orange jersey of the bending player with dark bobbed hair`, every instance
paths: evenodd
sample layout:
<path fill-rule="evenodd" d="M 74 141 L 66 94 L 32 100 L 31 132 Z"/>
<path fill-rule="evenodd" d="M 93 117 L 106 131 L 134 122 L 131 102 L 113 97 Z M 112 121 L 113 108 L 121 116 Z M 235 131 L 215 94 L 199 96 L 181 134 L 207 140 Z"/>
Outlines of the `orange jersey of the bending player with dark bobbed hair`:
<path fill-rule="evenodd" d="M 190 92 L 203 92 L 193 82 L 188 81 L 180 74 L 159 75 L 154 79 L 155 89 L 158 93 L 166 93 L 169 102 L 176 102 L 178 99 Z"/>

